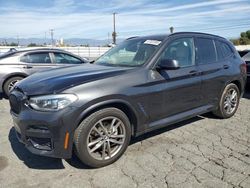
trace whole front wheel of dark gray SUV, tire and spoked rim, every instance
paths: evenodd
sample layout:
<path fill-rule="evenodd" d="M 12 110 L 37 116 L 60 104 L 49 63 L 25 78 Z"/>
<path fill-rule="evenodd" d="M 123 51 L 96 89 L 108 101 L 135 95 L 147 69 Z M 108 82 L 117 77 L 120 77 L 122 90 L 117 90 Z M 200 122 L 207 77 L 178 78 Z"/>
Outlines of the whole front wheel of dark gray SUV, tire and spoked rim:
<path fill-rule="evenodd" d="M 131 125 L 126 114 L 117 108 L 105 108 L 88 116 L 76 129 L 76 155 L 89 167 L 103 167 L 122 156 L 130 138 Z"/>

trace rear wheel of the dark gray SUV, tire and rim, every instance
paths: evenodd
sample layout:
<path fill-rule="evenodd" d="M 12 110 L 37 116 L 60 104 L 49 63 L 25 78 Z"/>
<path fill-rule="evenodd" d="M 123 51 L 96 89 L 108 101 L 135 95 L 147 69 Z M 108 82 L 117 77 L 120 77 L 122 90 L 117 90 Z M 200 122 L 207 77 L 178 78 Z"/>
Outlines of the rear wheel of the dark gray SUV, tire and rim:
<path fill-rule="evenodd" d="M 230 100 L 231 98 L 230 98 L 229 94 L 230 93 L 232 94 L 232 92 L 236 93 L 236 96 L 233 98 L 234 100 Z M 230 100 L 230 102 L 229 102 L 229 100 Z M 222 119 L 230 118 L 237 111 L 238 106 L 239 106 L 239 101 L 240 101 L 239 88 L 233 83 L 228 84 L 225 87 L 225 89 L 221 95 L 218 109 L 216 111 L 214 111 L 213 114 L 222 118 Z M 231 110 L 229 109 L 230 107 L 232 108 Z"/>

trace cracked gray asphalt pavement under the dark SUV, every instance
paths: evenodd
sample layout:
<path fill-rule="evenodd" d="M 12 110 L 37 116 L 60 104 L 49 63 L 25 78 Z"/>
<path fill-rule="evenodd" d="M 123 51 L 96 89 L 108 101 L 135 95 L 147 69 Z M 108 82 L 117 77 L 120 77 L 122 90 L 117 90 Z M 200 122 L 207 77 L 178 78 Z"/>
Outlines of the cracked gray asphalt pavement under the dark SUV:
<path fill-rule="evenodd" d="M 133 139 L 116 163 L 89 169 L 31 154 L 0 100 L 0 187 L 250 187 L 250 92 L 233 118 L 211 114 Z"/>

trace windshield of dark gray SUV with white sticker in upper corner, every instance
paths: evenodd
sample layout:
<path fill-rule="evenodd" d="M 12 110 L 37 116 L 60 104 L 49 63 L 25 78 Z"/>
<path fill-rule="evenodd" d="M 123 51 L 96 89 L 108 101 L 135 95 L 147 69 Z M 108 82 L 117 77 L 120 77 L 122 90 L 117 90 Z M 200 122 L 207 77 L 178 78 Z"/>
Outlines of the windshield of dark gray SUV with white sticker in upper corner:
<path fill-rule="evenodd" d="M 95 61 L 99 65 L 141 66 L 152 57 L 161 44 L 159 40 L 135 38 L 122 42 Z"/>

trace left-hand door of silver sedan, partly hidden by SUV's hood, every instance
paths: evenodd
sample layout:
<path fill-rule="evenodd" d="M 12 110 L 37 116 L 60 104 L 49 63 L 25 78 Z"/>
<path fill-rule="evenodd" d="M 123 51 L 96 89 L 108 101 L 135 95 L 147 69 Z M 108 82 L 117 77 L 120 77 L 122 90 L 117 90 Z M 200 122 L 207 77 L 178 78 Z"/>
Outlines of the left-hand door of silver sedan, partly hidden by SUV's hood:
<path fill-rule="evenodd" d="M 28 75 L 54 67 L 49 52 L 27 53 L 20 57 L 20 62 L 23 71 Z"/>

